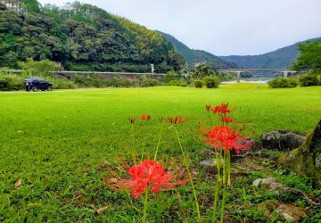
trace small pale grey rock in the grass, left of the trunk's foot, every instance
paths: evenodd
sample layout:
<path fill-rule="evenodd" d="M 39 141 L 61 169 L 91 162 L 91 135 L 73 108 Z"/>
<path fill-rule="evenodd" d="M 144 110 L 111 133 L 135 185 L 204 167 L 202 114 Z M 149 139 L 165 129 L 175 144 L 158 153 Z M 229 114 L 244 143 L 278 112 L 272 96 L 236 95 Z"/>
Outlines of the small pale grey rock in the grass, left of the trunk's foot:
<path fill-rule="evenodd" d="M 276 178 L 258 178 L 253 181 L 253 186 L 268 190 L 273 194 L 279 195 L 286 191 L 286 186 L 276 181 Z"/>

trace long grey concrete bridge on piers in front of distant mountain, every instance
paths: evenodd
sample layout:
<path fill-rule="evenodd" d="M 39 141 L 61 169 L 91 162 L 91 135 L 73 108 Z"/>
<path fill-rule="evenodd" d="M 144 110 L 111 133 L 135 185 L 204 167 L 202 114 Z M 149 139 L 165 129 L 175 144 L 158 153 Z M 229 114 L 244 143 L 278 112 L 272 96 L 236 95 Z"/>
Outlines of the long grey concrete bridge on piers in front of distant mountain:
<path fill-rule="evenodd" d="M 289 70 L 289 69 L 275 69 L 275 68 L 243 68 L 243 69 L 221 69 L 221 70 L 216 70 L 218 72 L 222 73 L 236 73 L 237 76 L 237 82 L 239 83 L 241 80 L 241 73 L 242 72 L 251 72 L 251 71 L 277 71 L 277 72 L 283 72 L 284 78 L 288 77 L 288 75 L 291 75 L 292 73 L 306 73 L 309 70 L 303 70 L 303 71 L 298 71 L 298 70 Z"/>

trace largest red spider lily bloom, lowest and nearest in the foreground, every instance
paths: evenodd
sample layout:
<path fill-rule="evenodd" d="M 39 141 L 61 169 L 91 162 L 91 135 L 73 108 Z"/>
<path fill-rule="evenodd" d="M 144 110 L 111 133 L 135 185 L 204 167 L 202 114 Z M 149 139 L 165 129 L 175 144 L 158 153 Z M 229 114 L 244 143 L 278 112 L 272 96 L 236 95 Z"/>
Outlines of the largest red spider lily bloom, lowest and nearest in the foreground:
<path fill-rule="evenodd" d="M 126 165 L 124 166 L 126 168 Z M 161 189 L 169 189 L 173 186 L 184 185 L 188 178 L 181 178 L 185 169 L 175 173 L 173 171 L 164 171 L 161 163 L 149 159 L 142 161 L 140 164 L 128 167 L 129 178 L 119 178 L 111 169 L 111 175 L 114 178 L 105 179 L 107 183 L 119 189 L 130 190 L 134 198 L 138 198 L 147 188 L 151 188 L 152 194 Z M 177 180 L 174 182 L 174 180 Z"/>

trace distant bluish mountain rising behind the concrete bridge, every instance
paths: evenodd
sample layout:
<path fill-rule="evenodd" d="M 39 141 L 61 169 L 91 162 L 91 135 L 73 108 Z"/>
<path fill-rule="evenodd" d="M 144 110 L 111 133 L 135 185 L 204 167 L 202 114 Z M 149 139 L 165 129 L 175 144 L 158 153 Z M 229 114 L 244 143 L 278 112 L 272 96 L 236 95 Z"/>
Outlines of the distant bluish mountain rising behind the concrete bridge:
<path fill-rule="evenodd" d="M 315 40 L 317 38 L 309 39 L 309 41 Z M 227 62 L 235 62 L 240 68 L 288 68 L 298 57 L 298 45 L 301 43 L 304 42 L 285 46 L 267 54 L 229 55 L 220 56 L 220 58 Z"/>

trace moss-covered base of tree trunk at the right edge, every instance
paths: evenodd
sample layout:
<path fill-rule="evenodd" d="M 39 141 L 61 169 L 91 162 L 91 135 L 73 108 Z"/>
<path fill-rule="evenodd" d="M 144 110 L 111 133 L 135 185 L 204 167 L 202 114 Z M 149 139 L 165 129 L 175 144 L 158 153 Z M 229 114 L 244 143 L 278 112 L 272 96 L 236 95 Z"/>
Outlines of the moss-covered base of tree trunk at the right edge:
<path fill-rule="evenodd" d="M 299 148 L 281 155 L 277 164 L 300 175 L 307 175 L 321 188 L 321 120 Z"/>

